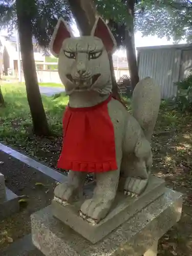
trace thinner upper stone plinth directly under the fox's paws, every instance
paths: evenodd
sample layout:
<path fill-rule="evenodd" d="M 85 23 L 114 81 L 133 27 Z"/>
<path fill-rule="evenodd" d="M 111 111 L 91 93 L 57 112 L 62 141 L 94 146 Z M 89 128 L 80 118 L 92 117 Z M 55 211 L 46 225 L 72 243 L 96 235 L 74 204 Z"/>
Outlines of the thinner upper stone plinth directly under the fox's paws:
<path fill-rule="evenodd" d="M 136 212 L 140 211 L 147 204 L 151 203 L 165 191 L 164 180 L 155 176 L 150 177 L 147 188 L 144 193 L 138 198 L 124 196 L 123 193 L 117 193 L 114 205 L 108 216 L 97 225 L 84 221 L 79 216 L 79 209 L 82 204 L 78 201 L 74 204 L 63 206 L 60 203 L 52 201 L 53 216 L 69 225 L 76 232 L 87 238 L 92 243 L 96 243 L 119 225 L 130 219 Z M 92 197 L 92 191 L 87 196 L 87 199 Z"/>

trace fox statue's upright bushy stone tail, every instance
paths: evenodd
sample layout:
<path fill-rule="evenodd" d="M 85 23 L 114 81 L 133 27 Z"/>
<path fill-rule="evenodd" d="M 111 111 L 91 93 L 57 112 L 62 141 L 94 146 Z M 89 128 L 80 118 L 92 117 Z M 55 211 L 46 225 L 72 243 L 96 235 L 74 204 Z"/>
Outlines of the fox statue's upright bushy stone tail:
<path fill-rule="evenodd" d="M 133 116 L 151 142 L 161 102 L 160 87 L 152 78 L 146 77 L 137 83 L 132 100 Z"/>

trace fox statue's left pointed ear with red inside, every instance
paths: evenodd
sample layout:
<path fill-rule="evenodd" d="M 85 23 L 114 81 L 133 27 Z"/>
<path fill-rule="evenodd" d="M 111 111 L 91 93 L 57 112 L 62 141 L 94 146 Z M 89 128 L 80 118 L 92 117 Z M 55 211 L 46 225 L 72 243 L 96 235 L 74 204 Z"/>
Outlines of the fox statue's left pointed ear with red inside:
<path fill-rule="evenodd" d="M 71 28 L 63 18 L 59 18 L 50 42 L 50 51 L 55 57 L 58 57 L 62 42 L 68 37 L 73 37 Z"/>

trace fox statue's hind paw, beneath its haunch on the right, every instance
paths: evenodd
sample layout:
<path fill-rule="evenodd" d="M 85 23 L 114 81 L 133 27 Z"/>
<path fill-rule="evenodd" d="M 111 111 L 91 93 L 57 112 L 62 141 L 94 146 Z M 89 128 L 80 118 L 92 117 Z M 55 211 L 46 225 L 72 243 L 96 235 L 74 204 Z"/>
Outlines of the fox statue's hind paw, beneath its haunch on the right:
<path fill-rule="evenodd" d="M 127 177 L 124 184 L 124 192 L 126 195 L 138 196 L 146 188 L 148 179 L 140 179 Z"/>

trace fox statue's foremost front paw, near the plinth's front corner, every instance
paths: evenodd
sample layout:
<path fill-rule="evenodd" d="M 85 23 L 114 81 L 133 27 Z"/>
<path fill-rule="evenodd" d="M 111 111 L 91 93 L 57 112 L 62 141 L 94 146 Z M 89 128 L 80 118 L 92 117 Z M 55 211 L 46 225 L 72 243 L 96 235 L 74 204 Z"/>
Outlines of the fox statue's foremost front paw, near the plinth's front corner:
<path fill-rule="evenodd" d="M 103 200 L 102 198 L 89 199 L 84 201 L 80 208 L 80 216 L 92 224 L 97 224 L 108 214 L 113 200 Z"/>

